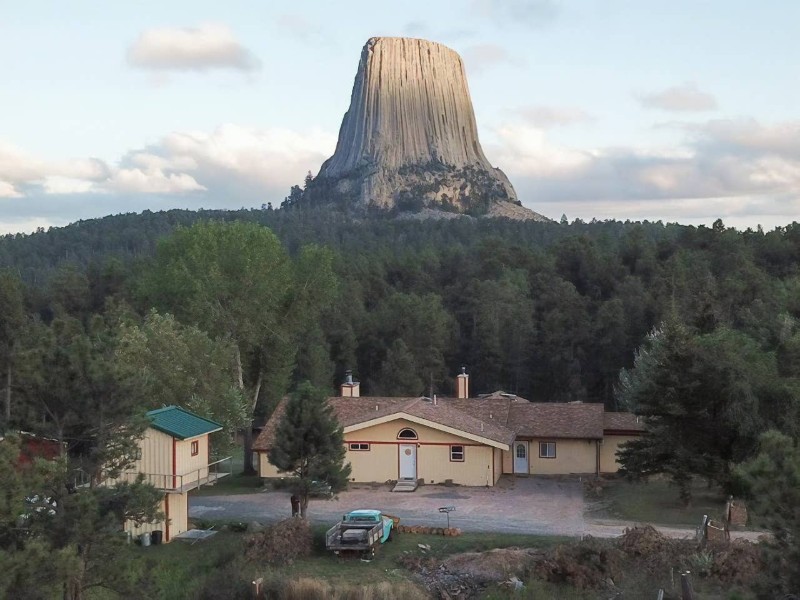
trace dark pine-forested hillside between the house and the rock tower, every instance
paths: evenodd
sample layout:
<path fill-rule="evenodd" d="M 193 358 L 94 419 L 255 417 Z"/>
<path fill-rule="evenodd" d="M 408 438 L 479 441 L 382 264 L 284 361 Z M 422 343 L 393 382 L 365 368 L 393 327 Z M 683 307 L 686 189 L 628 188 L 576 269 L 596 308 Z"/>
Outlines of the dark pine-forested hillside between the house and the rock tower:
<path fill-rule="evenodd" d="M 289 255 L 334 253 L 338 293 L 298 338 L 295 379 L 333 389 L 351 368 L 372 394 L 447 394 L 467 367 L 476 393 L 614 407 L 620 369 L 668 311 L 698 333 L 738 330 L 790 360 L 800 316 L 800 225 L 769 233 L 661 223 L 502 219 L 353 222 L 327 211 L 120 215 L 0 240 L 25 312 L 139 314 L 156 242 L 198 220 L 263 224 Z M 58 308 L 56 309 L 56 306 Z M 162 307 L 168 308 L 168 307 Z M 791 347 L 791 348 L 790 348 Z M 277 390 L 276 390 L 277 391 Z M 269 399 L 265 405 L 269 405 Z"/>

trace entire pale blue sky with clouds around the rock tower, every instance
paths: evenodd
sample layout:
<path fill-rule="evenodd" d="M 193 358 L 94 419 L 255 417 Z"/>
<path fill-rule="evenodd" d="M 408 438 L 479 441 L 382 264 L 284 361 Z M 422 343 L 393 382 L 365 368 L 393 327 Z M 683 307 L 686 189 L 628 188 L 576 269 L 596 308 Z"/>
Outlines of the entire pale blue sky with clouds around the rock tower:
<path fill-rule="evenodd" d="M 558 219 L 800 212 L 800 4 L 193 0 L 0 5 L 0 233 L 278 205 L 332 152 L 361 47 L 464 59 L 481 143 Z"/>

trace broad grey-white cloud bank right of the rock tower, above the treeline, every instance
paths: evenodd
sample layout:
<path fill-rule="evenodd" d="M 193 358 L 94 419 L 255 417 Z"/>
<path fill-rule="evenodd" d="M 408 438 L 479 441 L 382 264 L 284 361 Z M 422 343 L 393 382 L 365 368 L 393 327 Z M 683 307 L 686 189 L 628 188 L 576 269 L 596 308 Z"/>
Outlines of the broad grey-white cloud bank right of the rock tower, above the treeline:
<path fill-rule="evenodd" d="M 519 197 L 548 215 L 784 223 L 800 213 L 800 123 L 682 125 L 677 147 L 575 150 L 509 124 L 490 156 Z M 713 219 L 711 219 L 713 221 Z M 766 222 L 764 222 L 766 221 Z"/>

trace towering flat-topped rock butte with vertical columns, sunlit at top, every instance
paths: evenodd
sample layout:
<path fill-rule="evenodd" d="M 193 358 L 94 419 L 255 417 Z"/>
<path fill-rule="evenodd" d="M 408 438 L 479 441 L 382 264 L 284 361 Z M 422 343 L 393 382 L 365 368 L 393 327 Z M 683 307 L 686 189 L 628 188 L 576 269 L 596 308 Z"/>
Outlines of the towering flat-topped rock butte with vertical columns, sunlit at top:
<path fill-rule="evenodd" d="M 307 192 L 361 208 L 487 214 L 519 204 L 481 149 L 461 57 L 408 38 L 364 46 L 336 152 Z"/>

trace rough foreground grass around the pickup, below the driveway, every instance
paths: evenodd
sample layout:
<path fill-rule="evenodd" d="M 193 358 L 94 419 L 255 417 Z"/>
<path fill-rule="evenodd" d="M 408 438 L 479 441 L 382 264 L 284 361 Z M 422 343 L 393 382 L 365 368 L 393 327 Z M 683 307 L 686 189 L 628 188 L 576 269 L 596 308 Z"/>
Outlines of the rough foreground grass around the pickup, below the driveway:
<path fill-rule="evenodd" d="M 218 523 L 221 526 L 222 522 Z M 270 566 L 265 564 L 248 563 L 243 558 L 244 542 L 247 534 L 220 531 L 217 535 L 195 544 L 174 541 L 170 544 L 140 548 L 132 546 L 134 557 L 131 561 L 132 568 L 142 574 L 142 597 L 159 598 L 164 600 L 179 600 L 183 598 L 249 598 L 249 582 L 263 577 L 265 584 L 282 590 L 281 586 L 288 585 L 290 581 L 312 579 L 320 582 L 320 586 L 329 585 L 339 590 L 353 585 L 369 584 L 370 590 L 359 595 L 359 598 L 377 599 L 375 595 L 380 585 L 391 584 L 391 589 L 409 588 L 419 589 L 413 574 L 400 565 L 400 558 L 404 556 L 434 556 L 443 558 L 452 554 L 470 551 L 482 551 L 492 548 L 526 547 L 548 549 L 558 544 L 572 541 L 567 538 L 509 535 L 509 534 L 483 534 L 466 533 L 459 537 L 450 538 L 435 535 L 417 535 L 402 533 L 397 535 L 392 542 L 380 547 L 376 557 L 369 561 L 358 558 L 340 559 L 324 549 L 324 532 L 326 527 L 313 527 L 314 553 L 312 556 L 298 560 L 288 566 Z M 423 552 L 419 544 L 430 546 L 430 550 Z M 645 579 L 641 585 L 629 580 L 623 585 L 626 590 L 625 597 L 631 593 L 631 598 L 646 597 L 657 589 L 655 583 Z M 707 585 L 702 580 L 695 580 L 695 589 L 698 598 L 731 600 L 733 598 L 751 598 L 750 595 L 731 595 L 714 586 Z M 369 592 L 369 593 L 368 593 Z M 370 595 L 370 593 L 372 595 Z M 92 600 L 110 600 L 113 594 L 92 594 Z M 303 597 L 321 597 L 303 596 Z M 356 597 L 348 595 L 350 597 Z M 415 595 L 404 595 L 403 598 L 417 598 Z M 509 592 L 502 586 L 490 586 L 481 596 L 486 599 L 558 599 L 558 600 L 589 600 L 597 598 L 597 591 L 581 592 L 564 584 L 550 584 L 542 581 L 527 580 L 525 589 L 518 594 Z M 605 596 L 603 596 L 605 597 Z"/>

